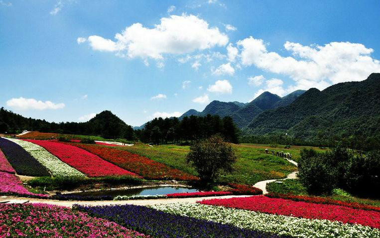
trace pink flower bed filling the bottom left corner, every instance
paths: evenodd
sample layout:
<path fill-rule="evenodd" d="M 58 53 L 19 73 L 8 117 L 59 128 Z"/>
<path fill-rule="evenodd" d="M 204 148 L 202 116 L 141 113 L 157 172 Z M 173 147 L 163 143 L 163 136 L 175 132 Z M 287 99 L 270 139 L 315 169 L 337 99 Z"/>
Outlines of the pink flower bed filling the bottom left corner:
<path fill-rule="evenodd" d="M 1 204 L 0 238 L 148 238 L 87 213 L 45 204 Z"/>

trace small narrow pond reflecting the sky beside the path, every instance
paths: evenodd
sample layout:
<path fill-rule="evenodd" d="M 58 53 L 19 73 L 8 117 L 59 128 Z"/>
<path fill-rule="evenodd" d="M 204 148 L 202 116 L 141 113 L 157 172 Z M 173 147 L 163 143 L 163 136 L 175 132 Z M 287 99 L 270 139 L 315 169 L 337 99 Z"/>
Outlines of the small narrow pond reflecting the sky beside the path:
<path fill-rule="evenodd" d="M 146 187 L 146 188 L 129 188 L 118 190 L 88 191 L 79 193 L 70 193 L 70 195 L 79 196 L 133 196 L 133 195 L 165 195 L 170 193 L 192 193 L 199 192 L 197 189 L 184 187 Z"/>

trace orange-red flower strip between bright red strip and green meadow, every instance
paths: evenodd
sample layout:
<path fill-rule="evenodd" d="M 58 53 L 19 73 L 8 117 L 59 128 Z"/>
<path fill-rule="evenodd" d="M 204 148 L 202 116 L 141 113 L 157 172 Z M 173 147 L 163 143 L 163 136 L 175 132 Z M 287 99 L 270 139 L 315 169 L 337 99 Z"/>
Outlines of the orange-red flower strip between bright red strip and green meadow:
<path fill-rule="evenodd" d="M 197 180 L 198 178 L 125 150 L 94 144 L 70 143 L 147 179 Z"/>

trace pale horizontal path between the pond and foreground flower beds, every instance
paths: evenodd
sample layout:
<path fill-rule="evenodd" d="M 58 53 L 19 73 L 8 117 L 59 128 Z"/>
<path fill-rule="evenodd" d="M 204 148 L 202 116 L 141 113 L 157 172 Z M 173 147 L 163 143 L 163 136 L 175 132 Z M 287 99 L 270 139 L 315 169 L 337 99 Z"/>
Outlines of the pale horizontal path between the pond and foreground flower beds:
<path fill-rule="evenodd" d="M 28 201 L 29 203 L 45 203 L 52 204 L 64 207 L 72 207 L 74 204 L 80 205 L 90 205 L 90 206 L 98 206 L 98 205 L 124 205 L 124 204 L 132 204 L 132 205 L 153 205 L 153 204 L 167 204 L 167 203 L 196 203 L 197 201 L 202 201 L 204 199 L 215 199 L 215 198 L 234 198 L 234 197 L 248 197 L 248 196 L 219 196 L 219 197 L 202 197 L 202 198 L 170 198 L 170 199 L 145 199 L 145 200 L 125 200 L 125 201 L 57 201 L 57 200 L 44 200 L 44 199 L 22 199 L 18 198 L 19 201 Z M 9 201 L 11 199 L 0 199 L 0 203 L 3 201 Z"/>

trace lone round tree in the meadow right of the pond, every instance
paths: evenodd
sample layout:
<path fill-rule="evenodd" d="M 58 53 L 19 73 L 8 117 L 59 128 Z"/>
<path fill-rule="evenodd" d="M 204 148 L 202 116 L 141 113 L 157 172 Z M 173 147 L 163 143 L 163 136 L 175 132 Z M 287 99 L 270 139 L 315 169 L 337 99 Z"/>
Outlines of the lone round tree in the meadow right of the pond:
<path fill-rule="evenodd" d="M 203 182 L 212 182 L 223 172 L 231 173 L 236 159 L 232 146 L 219 135 L 194 143 L 186 156 Z"/>

